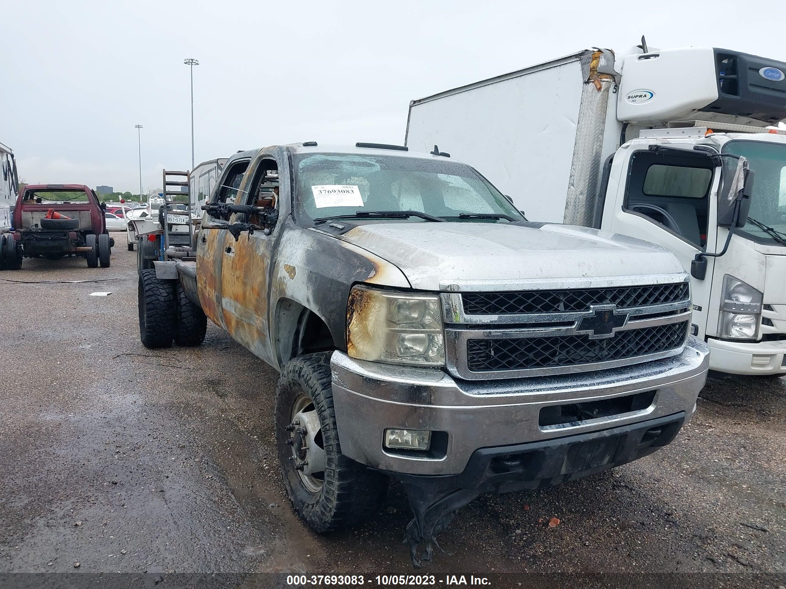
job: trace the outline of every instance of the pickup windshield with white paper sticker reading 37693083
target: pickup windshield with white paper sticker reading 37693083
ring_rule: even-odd
[[[295,212],[305,223],[358,211],[396,210],[418,211],[446,221],[524,220],[485,178],[450,160],[309,153],[296,155],[293,163]],[[414,216],[406,220],[426,222]]]

